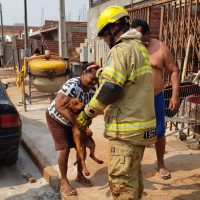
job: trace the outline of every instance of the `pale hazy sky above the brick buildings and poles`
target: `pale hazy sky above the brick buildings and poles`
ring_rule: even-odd
[[[59,0],[27,0],[28,26],[41,26],[44,20],[59,20]],[[66,20],[86,16],[89,0],[65,0]],[[3,24],[24,23],[24,0],[0,0]],[[83,11],[84,10],[84,11]]]

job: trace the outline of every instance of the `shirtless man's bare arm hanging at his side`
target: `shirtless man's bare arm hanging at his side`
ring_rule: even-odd
[[[172,111],[177,111],[180,107],[180,101],[179,101],[180,78],[179,78],[178,67],[175,63],[172,53],[164,43],[162,44],[162,50],[164,56],[164,65],[169,73],[170,81],[172,84],[172,97],[170,100],[170,108]]]

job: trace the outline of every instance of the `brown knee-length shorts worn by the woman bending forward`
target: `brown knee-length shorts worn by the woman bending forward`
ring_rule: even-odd
[[[71,126],[67,126],[55,119],[48,111],[46,111],[46,119],[57,151],[64,150],[66,147],[75,147]]]

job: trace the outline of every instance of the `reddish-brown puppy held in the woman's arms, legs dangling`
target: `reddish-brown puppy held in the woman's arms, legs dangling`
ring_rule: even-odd
[[[70,110],[70,112],[73,115],[76,116],[78,113],[80,113],[80,111],[84,109],[84,104],[80,101],[80,99],[73,98],[73,99],[70,99],[69,103],[67,104],[67,108]],[[78,160],[81,161],[83,173],[85,174],[85,176],[89,176],[90,172],[87,170],[87,167],[85,165],[86,147],[90,149],[90,157],[94,161],[96,161],[98,164],[103,163],[103,161],[97,159],[94,154],[95,142],[92,139],[92,131],[89,129],[89,127],[85,128],[85,130],[79,130],[76,127],[72,127],[72,133],[73,133],[73,138],[76,145],[76,150],[78,153]]]

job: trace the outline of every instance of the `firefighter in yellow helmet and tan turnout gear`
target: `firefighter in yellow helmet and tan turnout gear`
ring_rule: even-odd
[[[104,135],[109,140],[110,190],[117,200],[141,199],[141,160],[145,146],[156,141],[149,55],[141,34],[129,27],[129,15],[120,6],[107,7],[99,16],[98,36],[110,51],[98,73],[100,86],[77,117],[77,123],[85,127],[109,105]]]

